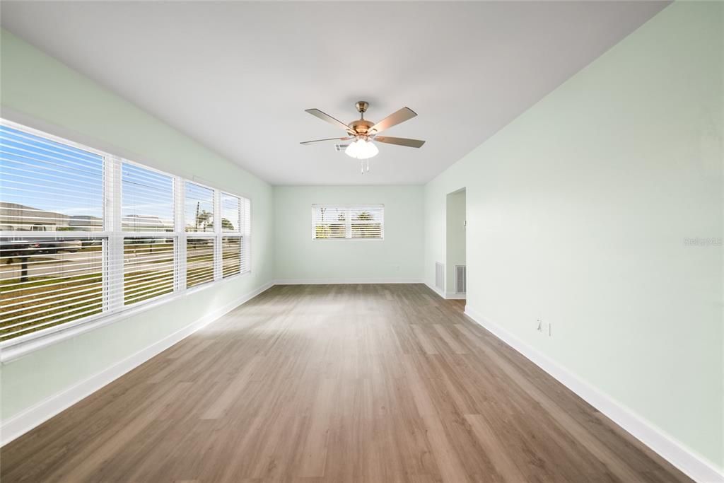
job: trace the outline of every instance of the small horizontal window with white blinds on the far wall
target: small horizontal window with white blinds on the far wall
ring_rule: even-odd
[[[312,238],[384,239],[384,205],[312,205]]]

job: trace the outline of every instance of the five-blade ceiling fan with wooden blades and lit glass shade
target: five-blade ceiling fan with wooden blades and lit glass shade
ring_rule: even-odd
[[[419,148],[425,143],[425,141],[418,139],[390,138],[390,136],[379,135],[382,131],[398,125],[400,122],[405,122],[408,119],[415,117],[417,114],[409,107],[403,107],[399,111],[390,114],[377,123],[364,118],[364,113],[369,107],[369,102],[357,101],[355,107],[360,113],[360,118],[355,119],[349,124],[345,124],[339,119],[334,119],[334,117],[321,112],[319,109],[306,109],[306,112],[309,114],[319,117],[319,119],[327,121],[331,125],[341,127],[343,130],[347,131],[347,136],[344,138],[327,138],[304,141],[300,144],[306,146],[308,144],[321,143],[322,141],[346,141],[354,139],[354,142],[345,149],[345,153],[355,159],[369,159],[379,153],[379,149],[372,141],[377,141],[378,143],[396,144],[397,146],[406,146],[408,148]]]

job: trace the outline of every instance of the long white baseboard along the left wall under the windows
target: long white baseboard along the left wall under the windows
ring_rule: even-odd
[[[74,405],[81,399],[88,397],[93,394],[93,392],[96,392],[101,389],[101,387],[104,387],[110,382],[113,382],[115,379],[118,379],[131,369],[135,369],[140,366],[140,364],[148,361],[148,359],[156,356],[175,343],[180,342],[180,340],[185,339],[185,337],[193,334],[198,329],[206,327],[206,325],[211,324],[211,322],[214,322],[216,319],[219,319],[219,317],[227,314],[234,308],[237,308],[241,304],[251,300],[256,297],[256,295],[259,295],[273,285],[273,282],[269,282],[258,289],[253,290],[251,293],[247,293],[239,298],[236,298],[234,301],[227,303],[227,305],[206,314],[206,316],[203,316],[201,319],[193,322],[193,324],[189,324],[186,327],[167,335],[167,337],[149,345],[147,348],[139,350],[122,361],[117,362],[113,366],[110,366],[97,374],[93,374],[93,376],[88,377],[88,379],[78,382],[71,387],[67,387],[61,392],[30,406],[30,408],[27,408],[15,416],[12,416],[12,418],[7,419],[7,421],[2,421],[0,424],[0,446],[6,445],[8,442],[11,442],[15,438],[30,431],[30,429],[38,427],[40,424],[43,424],[43,422],[51,419],[56,414],[70,408],[70,406]]]

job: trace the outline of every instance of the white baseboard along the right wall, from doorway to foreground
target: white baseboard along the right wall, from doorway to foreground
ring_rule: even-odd
[[[499,324],[495,324],[480,314],[476,314],[476,312],[468,308],[468,306],[466,306],[465,314],[473,320],[473,322],[488,329],[500,340],[510,345],[510,347],[546,371],[565,385],[565,387],[575,392],[581,399],[585,400],[586,403],[597,408],[597,410],[601,411],[601,413],[605,414],[620,427],[626,429],[633,437],[636,437],[636,439],[643,442],[644,445],[647,445],[696,482],[724,482],[724,474],[712,466],[711,463],[704,461],[699,455],[692,453],[691,450],[681,445],[681,443],[673,437],[654,427],[649,421],[646,421],[638,414],[610,398],[610,396],[589,385],[589,383],[571,371],[568,371],[568,369],[560,366],[560,364],[552,358],[545,356],[530,345],[523,343],[518,337],[515,337],[515,335],[502,328]]]

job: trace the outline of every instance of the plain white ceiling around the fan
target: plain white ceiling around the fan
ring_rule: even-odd
[[[656,1],[14,2],[2,26],[274,185],[421,184],[665,7]],[[371,172],[334,143],[370,102]],[[199,162],[202,162],[199,160]]]

